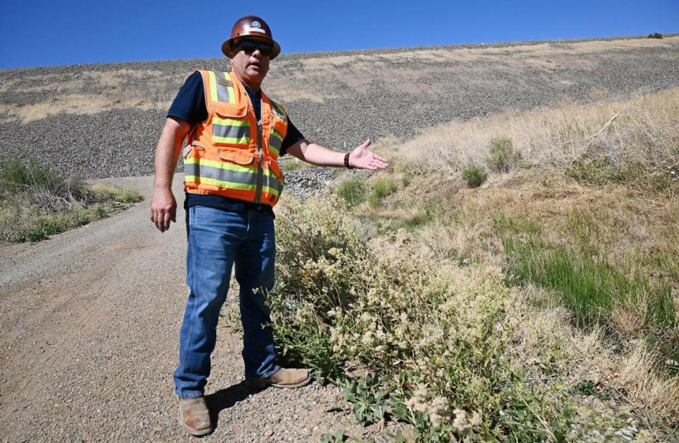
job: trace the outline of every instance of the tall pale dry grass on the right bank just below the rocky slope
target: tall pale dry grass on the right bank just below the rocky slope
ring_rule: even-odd
[[[670,167],[679,165],[678,122],[679,88],[672,88],[622,102],[563,103],[451,122],[405,143],[396,157],[416,169],[461,170],[488,155],[499,136],[510,138],[529,165],[564,167],[596,150],[613,165]]]

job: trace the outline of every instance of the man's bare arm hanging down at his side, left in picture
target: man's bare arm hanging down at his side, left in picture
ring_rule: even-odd
[[[177,202],[172,194],[172,177],[177,166],[181,142],[191,125],[180,119],[168,118],[156,148],[156,177],[151,199],[151,221],[160,232],[170,228],[170,220],[177,221]]]

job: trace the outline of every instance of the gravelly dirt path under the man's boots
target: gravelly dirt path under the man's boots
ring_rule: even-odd
[[[148,218],[152,178],[117,182],[147,201],[45,242],[0,247],[2,440],[191,438],[177,423],[172,383],[186,303],[184,212],[161,234]],[[239,334],[220,327],[207,385],[217,430],[207,439],[317,442],[329,429],[382,439],[377,427],[326,412],[338,404],[332,386],[244,388],[240,351]]]

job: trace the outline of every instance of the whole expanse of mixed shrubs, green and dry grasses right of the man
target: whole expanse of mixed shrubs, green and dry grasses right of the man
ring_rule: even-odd
[[[341,386],[358,423],[401,422],[392,441],[675,439],[678,93],[619,118],[456,122],[402,150],[392,183],[285,203],[268,294],[283,360]],[[473,164],[508,176],[461,190],[451,167]]]

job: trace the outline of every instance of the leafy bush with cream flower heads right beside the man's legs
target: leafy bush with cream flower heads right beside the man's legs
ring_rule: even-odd
[[[503,281],[470,274],[462,287],[456,266],[378,257],[354,223],[327,202],[280,217],[268,303],[282,358],[346,386],[360,423],[403,420],[417,441],[562,439],[564,391],[537,394],[505,358]]]

